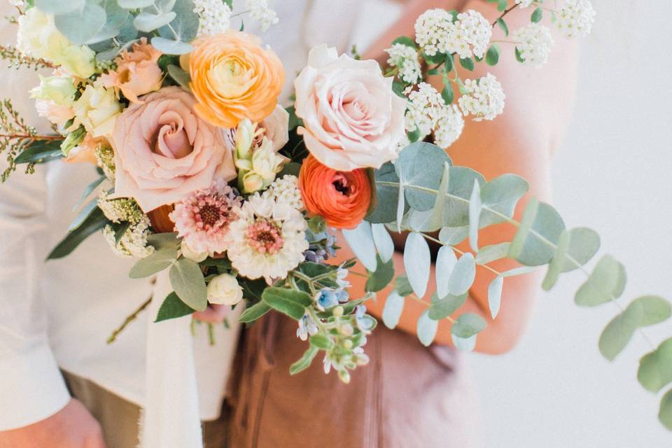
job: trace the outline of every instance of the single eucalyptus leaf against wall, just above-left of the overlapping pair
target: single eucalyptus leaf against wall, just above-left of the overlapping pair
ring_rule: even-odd
[[[621,297],[626,283],[625,267],[611,255],[604,255],[577,291],[574,301],[581,307],[595,307]]]

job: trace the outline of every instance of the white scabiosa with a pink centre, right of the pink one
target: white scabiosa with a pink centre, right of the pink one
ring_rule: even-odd
[[[228,257],[241,276],[272,284],[304,260],[306,221],[288,204],[255,193],[230,224]]]

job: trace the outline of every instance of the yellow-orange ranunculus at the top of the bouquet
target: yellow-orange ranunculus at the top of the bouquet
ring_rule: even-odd
[[[271,115],[285,82],[285,71],[260,39],[229,31],[202,38],[189,55],[191,90],[197,113],[219,127],[236,127],[244,118],[258,123]]]

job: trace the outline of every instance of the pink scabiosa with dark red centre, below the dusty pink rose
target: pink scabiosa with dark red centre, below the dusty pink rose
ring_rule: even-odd
[[[227,249],[229,225],[237,218],[239,195],[222,180],[197,190],[175,205],[170,218],[184,243],[195,253],[218,253]]]

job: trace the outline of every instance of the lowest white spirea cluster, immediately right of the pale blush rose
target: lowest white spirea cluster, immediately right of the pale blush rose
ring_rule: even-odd
[[[409,94],[406,112],[406,130],[420,132],[424,139],[434,132],[434,143],[441,148],[451,146],[460,137],[464,118],[457,106],[447,105],[441,94],[428,83],[420,83],[418,90]]]

